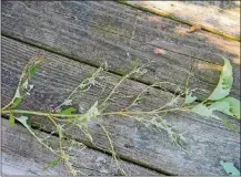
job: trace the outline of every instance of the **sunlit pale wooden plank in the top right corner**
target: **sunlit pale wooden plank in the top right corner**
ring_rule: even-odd
[[[240,1],[125,1],[138,9],[153,12],[203,30],[240,41]]]

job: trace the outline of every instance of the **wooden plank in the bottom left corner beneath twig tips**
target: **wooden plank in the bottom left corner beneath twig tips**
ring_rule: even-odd
[[[8,127],[8,119],[2,118],[2,174],[4,175],[51,175],[51,176],[69,176],[69,171],[63,164],[43,170],[47,164],[57,157],[47,150],[39,142],[21,125],[16,124],[13,127]],[[48,137],[49,134],[38,129],[34,133],[39,137]],[[50,136],[48,138],[57,147],[58,137]],[[118,168],[111,165],[111,156],[93,150],[88,147],[73,146],[70,152],[74,158],[70,163],[73,164],[77,170],[90,176],[117,176],[120,175]],[[120,165],[125,169],[128,176],[152,176],[158,175],[155,171],[133,165],[127,162],[120,162]],[[78,174],[81,175],[81,174]]]

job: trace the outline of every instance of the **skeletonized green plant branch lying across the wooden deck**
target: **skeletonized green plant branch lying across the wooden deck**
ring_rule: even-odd
[[[19,84],[16,90],[16,94],[12,101],[1,108],[1,114],[9,115],[9,126],[14,125],[14,119],[19,121],[32,136],[37,138],[37,140],[53,153],[57,157],[50,162],[47,167],[56,166],[59,162],[66,164],[67,168],[71,173],[72,176],[77,176],[78,174],[84,175],[81,171],[77,171],[71,164],[71,158],[69,156],[68,149],[71,147],[71,144],[64,143],[67,131],[70,127],[78,127],[80,132],[92,143],[94,140],[89,133],[88,123],[94,121],[100,124],[102,132],[104,133],[107,140],[109,142],[110,148],[109,150],[113,159],[120,169],[122,175],[125,175],[124,169],[119,165],[118,154],[114,150],[114,139],[111,138],[111,134],[104,127],[104,119],[111,118],[110,115],[128,117],[137,121],[148,128],[160,131],[162,133],[165,132],[168,134],[170,140],[174,145],[181,145],[181,142],[185,139],[183,136],[184,133],[179,133],[177,129],[172,127],[170,123],[167,122],[165,115],[170,112],[192,112],[201,115],[202,117],[208,118],[217,118],[223,122],[224,126],[233,132],[237,132],[235,127],[233,127],[228,121],[223,121],[214,112],[221,112],[227,114],[233,118],[240,119],[240,101],[237,98],[230,97],[229,93],[232,88],[233,75],[232,75],[232,65],[230,64],[228,59],[224,59],[224,65],[222,72],[220,74],[220,81],[214,88],[214,91],[207,97],[202,103],[197,103],[197,96],[192,95],[192,91],[189,90],[189,81],[185,83],[185,92],[180,93],[178,95],[173,95],[173,97],[167,102],[163,106],[158,108],[150,108],[149,111],[137,111],[135,107],[142,102],[143,95],[152,87],[161,87],[162,84],[172,84],[169,82],[157,82],[152,85],[143,88],[125,107],[119,111],[107,111],[108,104],[111,98],[118,93],[118,88],[121,84],[123,84],[130,77],[141,76],[147,72],[147,65],[139,65],[138,62],[134,63],[133,70],[122,76],[119,82],[113,86],[107,97],[102,100],[97,100],[88,110],[83,113],[77,113],[77,107],[72,105],[74,96],[82,96],[94,85],[99,85],[102,88],[102,93],[104,92],[106,85],[100,83],[103,80],[101,76],[104,71],[103,67],[97,69],[96,72],[90,77],[87,77],[67,96],[67,98],[59,105],[56,106],[51,112],[41,112],[41,111],[27,111],[18,108],[26,98],[26,94],[30,94],[33,85],[29,84],[29,80],[34,76],[34,74],[40,69],[40,64],[44,61],[43,55],[37,56],[34,60],[30,60],[23,72],[20,76]],[[190,75],[189,75],[190,76]],[[189,80],[188,76],[188,80]],[[178,87],[177,87],[178,91]],[[184,100],[182,100],[181,104],[178,102],[181,97],[185,95]],[[99,104],[100,103],[100,104]],[[53,149],[50,144],[46,143],[47,138],[40,138],[36,135],[34,129],[31,128],[29,121],[31,116],[38,116],[39,118],[48,118],[53,125],[53,132],[59,136],[59,148]],[[101,123],[100,123],[101,122]],[[52,133],[51,133],[52,134]],[[50,134],[50,135],[51,135]],[[77,143],[77,142],[74,142]],[[68,146],[69,145],[69,146]]]

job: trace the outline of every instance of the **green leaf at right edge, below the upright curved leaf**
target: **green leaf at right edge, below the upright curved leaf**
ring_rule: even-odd
[[[218,102],[228,102],[230,105],[230,112],[240,119],[240,101],[234,97],[224,97]]]

